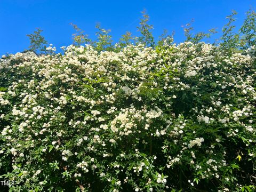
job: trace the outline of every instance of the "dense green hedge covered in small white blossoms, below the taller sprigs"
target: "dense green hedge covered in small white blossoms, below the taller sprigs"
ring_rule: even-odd
[[[2,179],[10,191],[253,191],[255,57],[187,42],[2,58]]]

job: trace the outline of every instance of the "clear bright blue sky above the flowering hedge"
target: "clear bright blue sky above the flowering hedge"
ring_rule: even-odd
[[[245,18],[245,12],[256,7],[255,0],[129,0],[129,1],[55,1],[55,0],[0,0],[0,55],[21,52],[29,46],[27,34],[35,28],[43,29],[43,36],[57,47],[72,43],[75,33],[69,25],[75,23],[95,38],[95,24],[100,22],[111,29],[114,41],[125,33],[137,33],[136,26],[141,11],[146,9],[154,35],[164,29],[175,31],[175,42],[184,39],[182,25],[194,19],[195,31],[206,31],[217,27],[218,31],[227,22],[231,10],[238,12],[237,26]],[[218,35],[216,36],[218,37]]]

